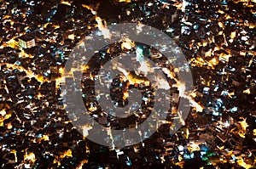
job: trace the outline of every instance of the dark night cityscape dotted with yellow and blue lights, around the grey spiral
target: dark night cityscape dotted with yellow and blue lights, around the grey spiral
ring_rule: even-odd
[[[0,0],[0,4],[0,168],[256,168],[255,0]],[[87,65],[73,63],[76,69],[65,70],[73,48],[83,46],[81,41],[90,33],[111,38],[108,26],[122,23],[163,31],[177,43],[188,65],[173,67],[155,48],[124,38],[96,51]],[[106,142],[113,143],[108,147],[86,138],[96,134],[90,125],[83,133],[77,130],[65,110],[63,88],[79,82],[69,73],[82,71],[82,98],[92,119],[108,129],[137,128],[154,104],[161,103],[155,99],[155,86],[139,75],[150,71],[146,61],[110,83],[109,97],[120,107],[129,103],[131,88],[142,93],[141,107],[134,114],[120,118],[97,103],[96,79],[108,81],[98,73],[108,60],[122,54],[135,54],[135,62],[143,57],[153,60],[154,69],[161,67],[169,84],[160,90],[172,95],[161,125],[148,123],[159,126],[157,131],[144,132],[147,139],[119,148],[114,143],[129,140],[98,129]],[[177,78],[177,72],[186,69],[194,83],[189,93],[183,93],[185,84]],[[170,134],[182,98],[189,101],[189,115],[180,118],[182,127]]]

